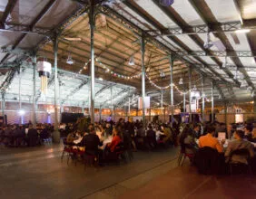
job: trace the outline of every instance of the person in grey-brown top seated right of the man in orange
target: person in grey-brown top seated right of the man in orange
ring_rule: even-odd
[[[234,133],[235,140],[230,142],[228,145],[228,148],[225,152],[226,162],[239,162],[239,163],[247,163],[247,159],[245,156],[231,156],[232,152],[239,149],[247,149],[249,151],[249,154],[251,157],[254,156],[253,146],[251,145],[251,142],[243,140],[244,132],[242,130],[236,130]]]

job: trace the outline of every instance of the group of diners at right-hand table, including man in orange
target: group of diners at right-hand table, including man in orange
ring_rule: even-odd
[[[244,165],[255,167],[256,128],[253,124],[233,124],[227,129],[219,123],[208,124],[200,132],[200,125],[184,125],[180,144],[182,153],[189,156],[191,163],[205,170],[204,160],[212,167],[225,170],[228,166]],[[221,136],[220,136],[221,135]]]

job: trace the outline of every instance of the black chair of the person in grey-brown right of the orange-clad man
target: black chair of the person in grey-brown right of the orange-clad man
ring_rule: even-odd
[[[240,159],[244,159],[245,162],[241,161],[233,161],[233,156],[239,156]],[[250,152],[247,148],[241,148],[237,149],[231,152],[230,160],[229,160],[229,166],[230,166],[230,174],[233,174],[233,168],[241,168],[241,172],[243,171],[243,168],[247,171],[247,173],[251,172],[251,158],[250,158]]]

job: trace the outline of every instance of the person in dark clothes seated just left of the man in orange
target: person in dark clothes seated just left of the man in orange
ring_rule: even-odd
[[[192,154],[194,155],[197,151],[197,144],[194,141],[194,132],[191,128],[184,128],[182,131],[182,135],[180,138],[180,144],[182,146],[182,149],[185,150],[186,154]]]

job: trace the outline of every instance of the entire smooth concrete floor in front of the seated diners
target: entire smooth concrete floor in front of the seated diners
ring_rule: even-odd
[[[256,178],[198,175],[178,149],[137,152],[130,164],[89,167],[61,163],[62,147],[0,150],[0,198],[256,198]]]

